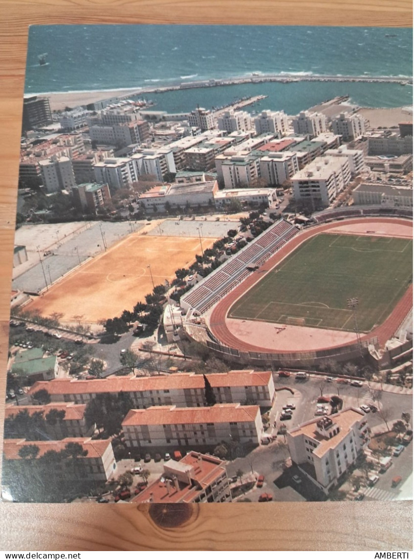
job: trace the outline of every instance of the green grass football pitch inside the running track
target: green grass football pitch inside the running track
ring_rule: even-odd
[[[305,241],[230,309],[234,319],[360,332],[391,313],[412,282],[412,240],[321,234]]]

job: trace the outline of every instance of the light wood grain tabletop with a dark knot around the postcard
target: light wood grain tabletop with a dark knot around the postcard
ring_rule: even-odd
[[[27,29],[33,24],[412,25],[411,0],[0,0],[0,422]],[[168,512],[167,514],[168,515]],[[412,502],[0,504],[1,550],[411,550]],[[170,522],[171,520],[168,520]],[[170,523],[171,525],[171,523]]]

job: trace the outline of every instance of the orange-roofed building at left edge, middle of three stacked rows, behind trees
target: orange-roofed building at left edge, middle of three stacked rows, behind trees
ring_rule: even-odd
[[[87,424],[84,417],[86,404],[74,403],[51,403],[51,404],[30,404],[30,405],[7,405],[4,411],[6,422],[8,419],[16,417],[19,412],[27,412],[29,416],[32,414],[43,414],[45,418],[44,430],[51,440],[62,440],[65,437],[90,437],[95,430],[95,424]],[[58,410],[64,413],[62,419],[58,418],[55,422],[48,421],[48,414],[51,410]],[[10,431],[8,431],[10,433]],[[11,437],[25,437],[26,434],[15,433]]]

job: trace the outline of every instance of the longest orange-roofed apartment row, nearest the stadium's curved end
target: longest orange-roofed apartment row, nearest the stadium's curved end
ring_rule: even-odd
[[[255,402],[270,406],[275,398],[275,385],[270,371],[232,370],[207,374],[218,403]],[[87,404],[100,394],[128,394],[135,408],[154,405],[203,407],[205,383],[202,375],[178,373],[153,377],[108,377],[96,380],[55,379],[38,381],[29,396],[46,389],[53,403]]]

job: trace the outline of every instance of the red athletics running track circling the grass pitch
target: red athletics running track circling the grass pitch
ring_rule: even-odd
[[[270,269],[274,268],[278,263],[281,262],[286,256],[288,256],[292,251],[294,251],[300,244],[302,244],[305,240],[309,239],[309,237],[313,237],[314,235],[321,234],[322,232],[328,230],[338,230],[338,229],[346,229],[346,226],[353,226],[352,228],[357,230],[355,226],[363,225],[368,226],[370,223],[377,223],[383,224],[384,227],[387,225],[387,232],[381,232],[381,235],[391,237],[393,235],[393,225],[397,226],[396,229],[396,237],[401,237],[401,226],[405,226],[412,228],[412,223],[409,220],[402,220],[399,218],[350,218],[349,220],[341,220],[338,222],[331,222],[322,224],[319,226],[314,226],[309,230],[306,230],[297,237],[294,237],[291,241],[289,241],[286,245],[283,246],[275,255],[271,256],[269,260],[266,261],[264,265],[258,269],[257,272],[251,274],[251,276],[247,277],[244,282],[242,282],[239,286],[234,288],[233,291],[228,293],[222,301],[220,301],[211,312],[210,318],[207,319],[209,323],[209,328],[211,333],[219,340],[224,346],[228,346],[230,348],[237,348],[243,352],[277,352],[277,353],[291,353],[291,352],[300,352],[300,326],[293,326],[289,325],[289,329],[294,329],[295,333],[294,336],[291,337],[291,348],[277,348],[275,347],[261,347],[255,346],[254,344],[248,343],[245,340],[241,340],[238,338],[231,330],[228,328],[225,319],[227,318],[228,311],[230,307],[234,304],[239,297],[241,297],[244,293],[246,293],[250,288],[260,281],[263,278],[265,272],[268,272]],[[391,225],[391,232],[390,226]],[[345,233],[345,231],[344,231]],[[360,231],[361,234],[366,235],[366,230]],[[355,231],[354,235],[357,235],[357,231]],[[371,235],[371,234],[368,234]],[[377,233],[379,235],[379,232]],[[261,273],[261,274],[258,274]],[[392,338],[393,334],[398,329],[398,326],[402,323],[403,319],[406,317],[408,311],[410,311],[412,307],[412,285],[406,293],[404,293],[401,300],[398,301],[397,305],[392,310],[391,314],[388,318],[379,325],[377,328],[372,330],[370,333],[362,335],[361,340],[370,339],[373,337],[378,337],[378,341],[380,346],[383,346],[387,340]],[[257,328],[257,323],[255,323]],[[266,323],[264,323],[266,325]],[[269,323],[267,325],[270,325]],[[317,329],[321,332],[321,337],[323,338],[323,329]],[[344,344],[336,344],[335,346],[319,346],[321,342],[318,343],[315,340],[316,346],[313,348],[313,351],[316,350],[326,350],[328,348],[341,348],[344,346],[348,346],[349,342]],[[355,338],[356,342],[356,338]]]

